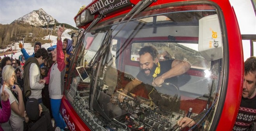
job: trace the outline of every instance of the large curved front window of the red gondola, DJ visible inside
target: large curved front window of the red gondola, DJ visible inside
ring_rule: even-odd
[[[76,48],[67,99],[95,128],[171,130],[192,109],[192,128],[210,130],[223,70],[218,14],[209,4],[161,5],[96,24]]]

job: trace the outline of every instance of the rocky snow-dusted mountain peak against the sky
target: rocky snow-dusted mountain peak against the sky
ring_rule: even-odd
[[[33,25],[35,27],[44,26],[44,25],[52,25],[59,23],[55,18],[48,15],[42,8],[39,10],[33,10],[32,12],[14,20],[13,23],[28,23],[29,25]]]

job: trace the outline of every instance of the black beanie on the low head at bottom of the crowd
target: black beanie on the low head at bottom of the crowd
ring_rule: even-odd
[[[30,120],[36,121],[39,119],[39,102],[35,98],[28,99],[26,103],[26,113]]]

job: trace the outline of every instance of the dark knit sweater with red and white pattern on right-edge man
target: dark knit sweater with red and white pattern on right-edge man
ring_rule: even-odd
[[[252,99],[242,97],[233,130],[246,131],[254,121],[256,121],[256,96]]]

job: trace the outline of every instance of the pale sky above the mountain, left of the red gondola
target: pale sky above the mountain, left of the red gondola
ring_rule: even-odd
[[[76,27],[74,16],[92,0],[0,0],[0,24],[10,24],[33,10],[42,8],[60,23]]]

